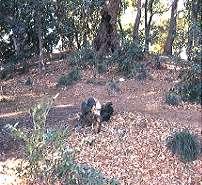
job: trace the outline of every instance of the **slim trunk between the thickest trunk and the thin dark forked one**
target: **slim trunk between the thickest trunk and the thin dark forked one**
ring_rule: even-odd
[[[137,15],[135,18],[135,24],[133,29],[133,41],[139,43],[139,26],[141,19],[141,0],[137,0]]]

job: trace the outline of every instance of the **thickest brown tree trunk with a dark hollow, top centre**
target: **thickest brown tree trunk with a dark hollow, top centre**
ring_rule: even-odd
[[[106,1],[105,7],[101,11],[101,23],[94,39],[94,47],[98,56],[114,52],[119,48],[117,34],[117,21],[120,13],[121,0]]]

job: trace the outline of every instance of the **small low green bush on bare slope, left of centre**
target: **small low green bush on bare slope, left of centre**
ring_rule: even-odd
[[[58,80],[58,86],[69,86],[81,79],[81,73],[78,68],[74,68],[66,75],[62,75]]]

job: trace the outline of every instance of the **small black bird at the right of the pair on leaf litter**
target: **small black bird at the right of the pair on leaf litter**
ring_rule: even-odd
[[[100,111],[101,122],[109,121],[113,113],[114,109],[112,107],[112,102],[107,102],[106,104],[102,105]]]

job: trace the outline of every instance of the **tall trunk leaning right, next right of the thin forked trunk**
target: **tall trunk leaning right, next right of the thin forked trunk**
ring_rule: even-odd
[[[171,9],[170,26],[168,36],[164,46],[164,55],[172,55],[172,46],[176,36],[176,19],[177,19],[177,3],[179,0],[174,0]]]

